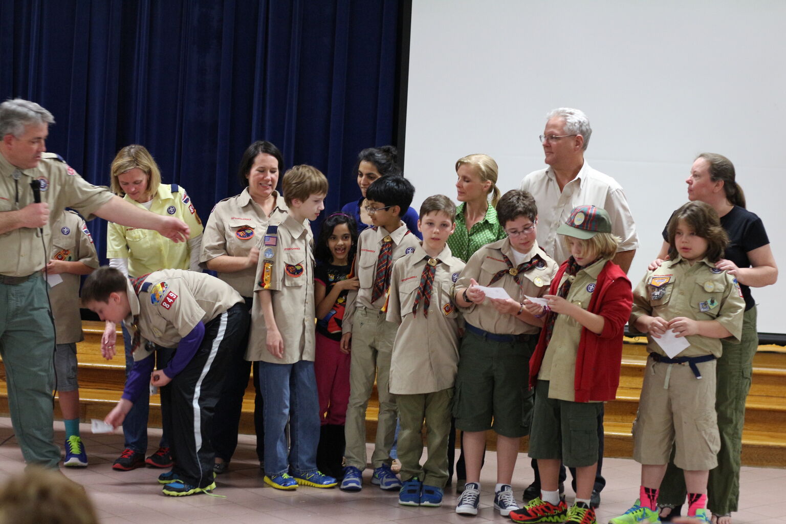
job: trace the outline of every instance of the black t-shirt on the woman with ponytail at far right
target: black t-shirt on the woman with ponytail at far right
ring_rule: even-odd
[[[747,258],[748,252],[769,244],[762,219],[744,207],[732,207],[732,211],[721,217],[721,225],[729,235],[729,246],[726,247],[724,256],[737,267],[751,267],[751,260]],[[668,224],[663,228],[663,240],[669,241]],[[740,284],[740,289],[745,299],[745,310],[750,310],[756,305],[751,295],[751,288]]]

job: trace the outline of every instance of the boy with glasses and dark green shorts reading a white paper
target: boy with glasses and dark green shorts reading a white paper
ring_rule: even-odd
[[[476,251],[456,284],[455,300],[466,321],[454,398],[467,463],[468,482],[456,506],[461,515],[478,512],[481,457],[489,429],[497,433],[494,508],[504,516],[518,508],[510,482],[532,414],[532,393],[522,373],[543,324],[524,309],[523,300],[524,295],[543,295],[557,267],[538,247],[538,207],[528,192],[506,192],[497,215],[508,238]],[[511,298],[487,300],[480,286],[503,288]]]

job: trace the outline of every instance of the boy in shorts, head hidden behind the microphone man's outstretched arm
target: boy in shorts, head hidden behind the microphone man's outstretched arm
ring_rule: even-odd
[[[98,255],[85,221],[74,211],[63,211],[52,225],[52,259],[46,265],[46,274],[59,274],[63,279],[50,288],[49,295],[56,330],[55,379],[65,424],[63,465],[67,467],[87,465],[85,445],[79,436],[76,343],[85,339],[79,316],[79,275],[90,274],[97,267]]]

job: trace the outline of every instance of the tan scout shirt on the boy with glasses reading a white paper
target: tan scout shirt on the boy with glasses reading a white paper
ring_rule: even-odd
[[[538,247],[537,241],[533,244],[531,251],[524,256],[524,261],[531,260],[534,255],[540,255],[545,263],[540,267],[534,266],[527,273],[524,273],[523,277],[520,276],[521,286],[516,284],[516,280],[513,280],[510,274],[506,274],[489,286],[491,278],[501,269],[507,269],[508,267],[502,258],[502,254],[510,259],[513,266],[518,266],[513,258],[513,248],[510,247],[510,240],[507,238],[497,240],[475,251],[469,258],[464,271],[461,272],[461,277],[458,279],[456,287],[468,288],[469,280],[474,278],[481,286],[505,288],[510,298],[518,302],[524,299],[524,295],[539,297],[549,292],[549,284],[551,284],[551,279],[554,277],[558,266],[549,255],[546,255]],[[461,308],[461,311],[464,313],[464,320],[467,321],[467,324],[472,324],[476,328],[483,329],[483,331],[498,335],[534,334],[540,330],[537,326],[520,321],[514,315],[500,314],[488,300],[484,300],[482,304],[472,304],[472,306],[467,308]]]

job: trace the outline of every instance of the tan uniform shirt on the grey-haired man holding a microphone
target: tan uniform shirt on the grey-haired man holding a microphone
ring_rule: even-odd
[[[18,172],[19,180],[14,180]],[[41,201],[48,203],[50,217],[61,215],[66,207],[73,207],[90,216],[108,200],[112,193],[85,181],[76,171],[57,159],[41,159],[37,167],[17,170],[0,154],[0,212],[18,211],[33,203],[30,182],[41,181]],[[51,221],[44,225],[44,242],[38,228],[19,228],[0,234],[0,274],[27,277],[40,271],[50,261]]]

